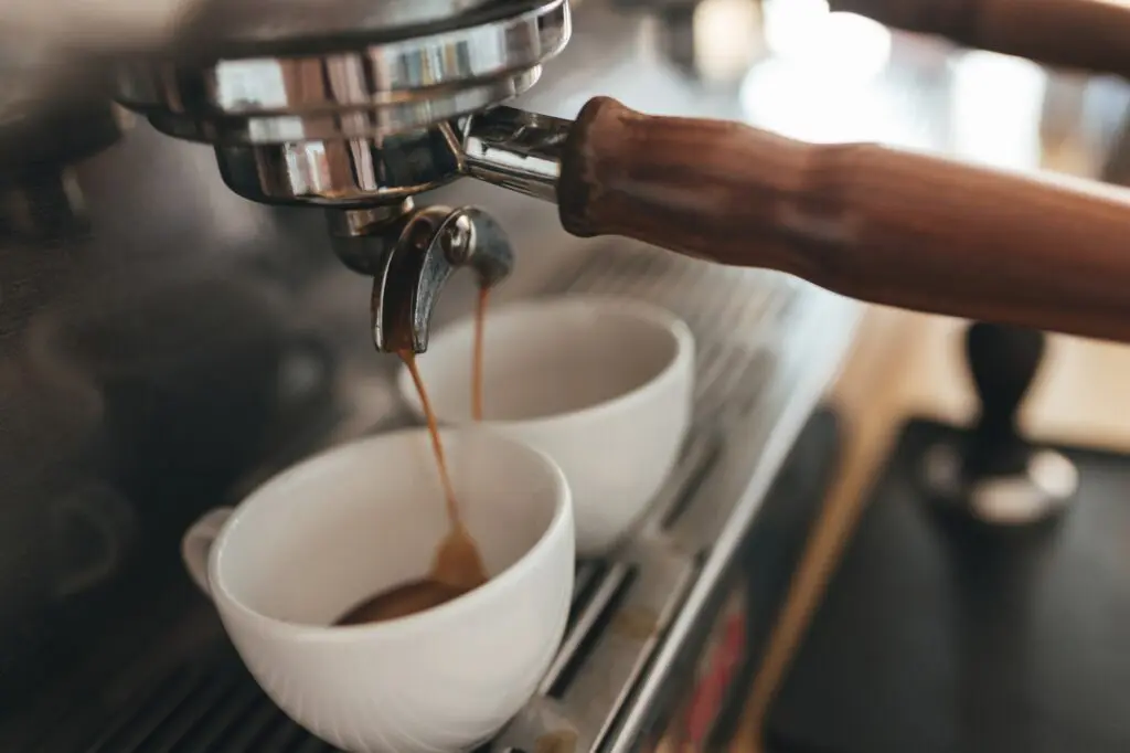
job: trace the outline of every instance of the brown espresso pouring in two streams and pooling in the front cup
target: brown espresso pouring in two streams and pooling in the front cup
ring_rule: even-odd
[[[475,311],[475,350],[471,364],[471,415],[475,421],[483,419],[483,330],[488,297],[489,291],[480,288]],[[451,484],[447,460],[443,453],[443,442],[440,441],[440,423],[435,410],[432,409],[427,390],[424,389],[424,380],[416,365],[416,355],[411,350],[402,350],[399,355],[412,376],[420,406],[427,418],[432,451],[435,453],[440,483],[443,485],[451,530],[440,542],[427,578],[397,586],[365,599],[340,617],[336,623],[339,625],[382,622],[424,612],[478,588],[488,579],[479,548],[459,512],[455,490]]]

